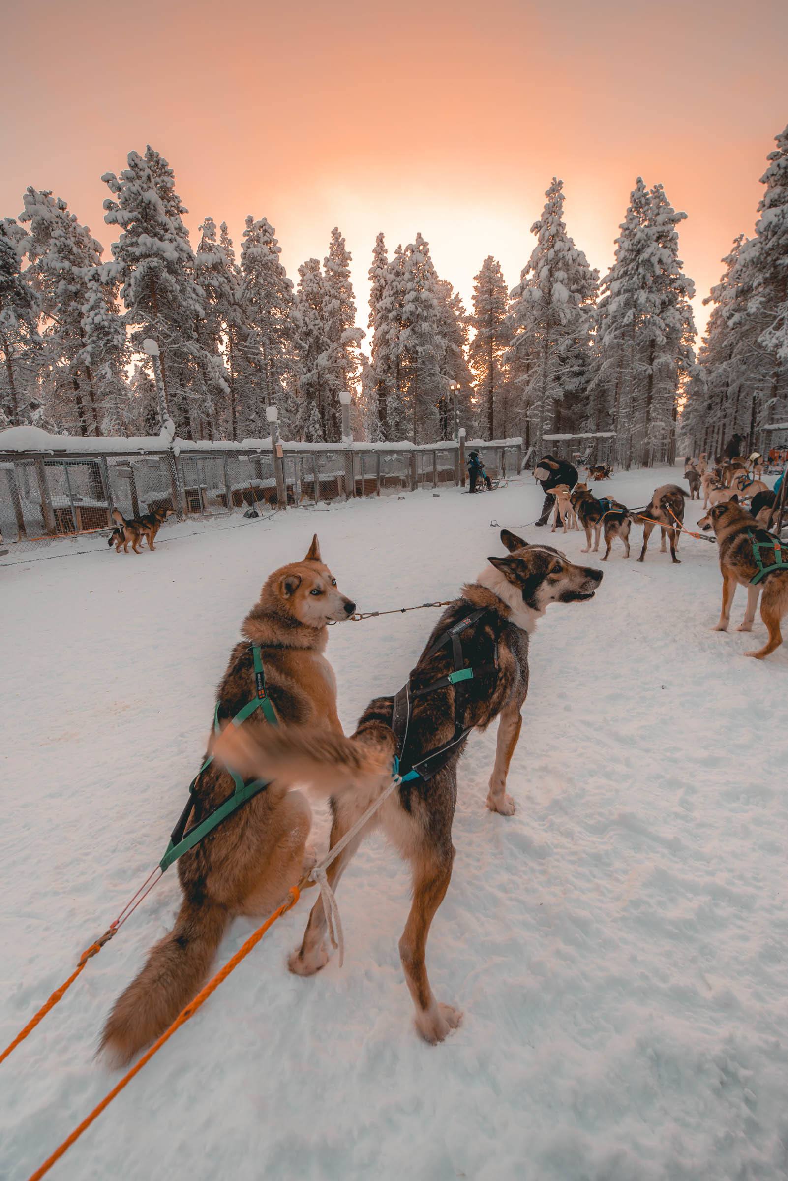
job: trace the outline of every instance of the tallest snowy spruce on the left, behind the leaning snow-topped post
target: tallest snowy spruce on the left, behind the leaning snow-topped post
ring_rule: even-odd
[[[201,417],[210,409],[204,404],[202,350],[196,339],[203,306],[191,247],[180,226],[170,221],[155,177],[138,152],[129,154],[129,168],[120,176],[105,172],[101,180],[113,194],[104,202],[104,220],[120,229],[112,244],[113,278],[120,283],[130,344],[139,353],[143,340],[156,340],[176,430],[195,438]],[[169,187],[162,177],[159,187],[166,197]]]

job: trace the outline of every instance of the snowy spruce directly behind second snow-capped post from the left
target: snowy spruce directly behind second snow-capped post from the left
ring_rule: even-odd
[[[256,380],[241,407],[241,417],[245,432],[257,438],[268,433],[265,406],[278,409],[280,431],[285,438],[297,410],[293,283],[280,260],[281,253],[270,222],[265,217],[255,221],[249,215],[241,247],[241,302],[251,328]]]

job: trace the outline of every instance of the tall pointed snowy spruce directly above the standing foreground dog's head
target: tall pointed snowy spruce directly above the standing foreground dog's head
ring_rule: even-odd
[[[553,177],[541,217],[531,227],[537,246],[511,293],[511,345],[505,354],[521,391],[526,442],[541,448],[550,431],[582,419],[585,360],[598,274],[566,233],[563,182]]]

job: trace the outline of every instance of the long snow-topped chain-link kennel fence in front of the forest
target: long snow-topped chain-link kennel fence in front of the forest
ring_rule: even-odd
[[[58,539],[109,537],[113,510],[130,518],[168,508],[170,521],[183,521],[454,487],[465,483],[471,448],[494,479],[517,475],[523,464],[520,439],[252,448],[83,441],[21,429],[19,445],[8,446],[7,437],[19,439],[19,430],[0,435],[0,544],[6,554]]]

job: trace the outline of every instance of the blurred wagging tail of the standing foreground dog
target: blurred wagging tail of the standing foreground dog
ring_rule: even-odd
[[[307,726],[226,726],[214,744],[219,762],[244,777],[303,784],[321,797],[373,787],[392,774],[394,736],[379,743]]]

